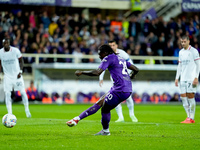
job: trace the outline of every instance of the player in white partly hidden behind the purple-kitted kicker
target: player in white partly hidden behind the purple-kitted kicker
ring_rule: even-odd
[[[124,58],[126,61],[133,64],[133,61],[129,58],[129,55],[121,49],[118,49],[118,45],[115,41],[109,41],[108,44],[113,49],[115,53],[117,53],[120,57]],[[131,70],[128,70],[129,74],[131,73]],[[99,76],[99,85],[102,86],[103,84],[103,77],[104,77],[105,71],[102,72],[102,74]],[[112,78],[111,78],[112,80]],[[129,116],[132,120],[132,122],[138,122],[138,119],[135,117],[134,114],[134,102],[132,99],[132,96],[130,96],[128,99],[126,99],[126,104],[129,109]],[[115,122],[124,122],[124,116],[122,113],[122,106],[119,104],[117,107],[115,107],[115,110],[117,111],[118,119]]]

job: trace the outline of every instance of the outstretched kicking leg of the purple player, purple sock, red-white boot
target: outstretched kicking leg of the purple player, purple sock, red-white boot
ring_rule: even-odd
[[[95,103],[93,106],[91,106],[87,110],[83,111],[79,116],[74,117],[70,121],[66,122],[66,124],[70,127],[73,127],[77,125],[80,120],[96,113],[103,106],[105,96],[106,94],[104,94],[97,103]]]

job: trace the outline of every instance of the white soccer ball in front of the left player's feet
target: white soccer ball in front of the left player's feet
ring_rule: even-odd
[[[2,118],[2,123],[7,128],[12,128],[17,123],[17,118],[13,114],[5,114]]]

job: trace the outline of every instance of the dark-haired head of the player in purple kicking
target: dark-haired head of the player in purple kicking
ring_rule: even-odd
[[[102,60],[105,56],[108,56],[110,54],[115,54],[113,49],[108,44],[103,44],[99,47],[98,54],[99,58]]]

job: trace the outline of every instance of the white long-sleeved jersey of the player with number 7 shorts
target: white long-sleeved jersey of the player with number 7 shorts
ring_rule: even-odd
[[[181,65],[180,81],[193,81],[197,74],[197,66],[195,61],[199,60],[197,49],[191,45],[188,49],[181,49],[179,52],[179,63]]]

